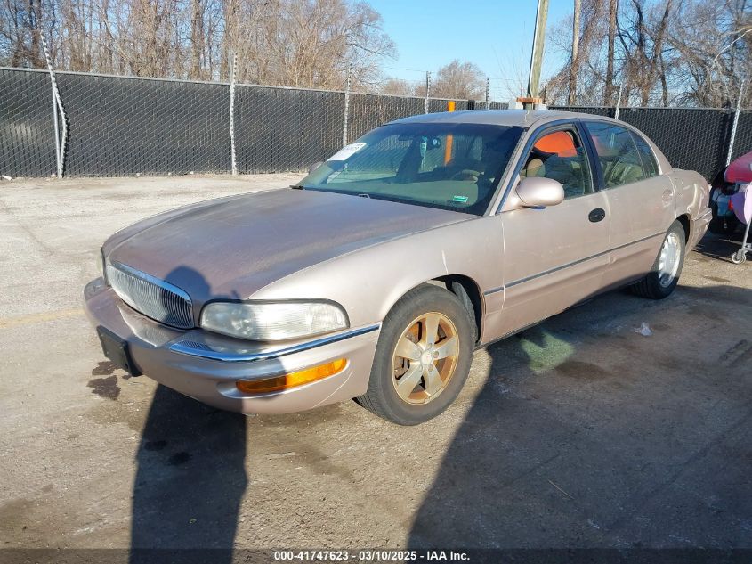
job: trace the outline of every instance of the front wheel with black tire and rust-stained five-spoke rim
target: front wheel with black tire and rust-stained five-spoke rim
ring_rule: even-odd
[[[431,326],[426,323],[433,323],[429,318],[439,328],[434,331],[435,346],[430,344],[431,339],[426,339],[425,327]],[[408,291],[384,319],[368,391],[356,401],[398,425],[417,425],[433,419],[449,407],[465,385],[473,360],[474,335],[474,322],[467,309],[449,290],[422,284]],[[453,345],[448,340],[452,336],[456,337]],[[402,348],[405,340],[410,342]],[[452,346],[441,348],[448,344]],[[419,360],[400,356],[398,353],[403,350],[415,354]],[[455,355],[427,362],[433,356],[455,351]],[[416,354],[418,352],[421,354]],[[433,365],[430,372],[429,364]],[[405,384],[400,391],[399,382]]]

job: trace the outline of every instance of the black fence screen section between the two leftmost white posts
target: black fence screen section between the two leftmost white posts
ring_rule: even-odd
[[[57,75],[69,176],[230,169],[227,87]]]

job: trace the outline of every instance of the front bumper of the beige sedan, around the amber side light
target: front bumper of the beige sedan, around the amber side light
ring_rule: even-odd
[[[86,315],[128,343],[136,367],[168,388],[220,409],[291,413],[360,396],[368,388],[380,325],[292,344],[261,347],[200,329],[180,331],[134,311],[101,278],[84,290]],[[342,372],[297,388],[247,395],[237,380],[258,380],[346,358]]]

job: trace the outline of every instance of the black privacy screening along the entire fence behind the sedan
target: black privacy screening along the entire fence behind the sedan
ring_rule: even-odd
[[[65,176],[181,175],[232,169],[230,86],[154,78],[56,73],[68,135]],[[492,102],[491,109],[506,104]],[[345,94],[270,86],[235,88],[240,173],[301,171],[342,147]],[[447,101],[430,99],[430,112]],[[457,110],[485,108],[457,101]],[[561,107],[613,116],[613,108]],[[350,94],[348,140],[392,119],[422,114],[425,99]],[[622,109],[676,168],[711,180],[724,169],[733,110]],[[733,158],[752,151],[752,112],[740,113]],[[55,173],[53,94],[47,72],[0,69],[0,174]]]

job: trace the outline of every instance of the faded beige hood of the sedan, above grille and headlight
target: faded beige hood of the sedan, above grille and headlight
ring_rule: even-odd
[[[391,201],[284,189],[167,212],[117,233],[104,249],[110,262],[170,282],[200,307],[210,299],[248,298],[287,274],[468,218]]]

